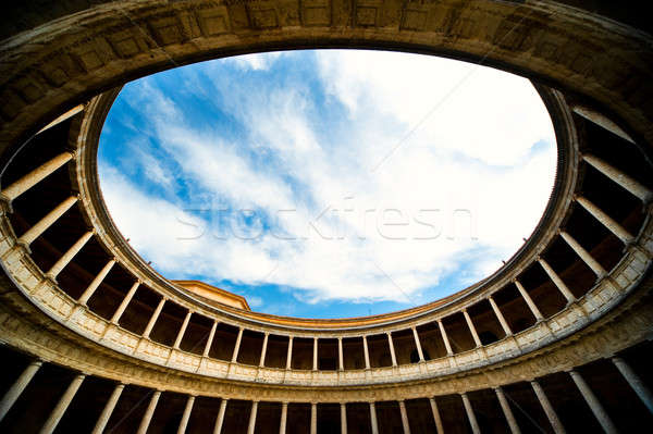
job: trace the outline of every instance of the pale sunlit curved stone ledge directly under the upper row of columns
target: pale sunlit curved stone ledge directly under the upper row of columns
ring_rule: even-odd
[[[188,373],[243,382],[266,382],[303,386],[349,386],[382,384],[453,375],[480,367],[492,365],[506,359],[543,348],[587,327],[617,306],[637,287],[639,278],[651,264],[653,251],[653,222],[649,219],[637,241],[627,248],[619,263],[567,309],[537,323],[514,336],[453,356],[418,364],[374,368],[365,371],[286,371],[282,369],[250,367],[202,358],[180,349],[143,338],[89,311],[61,290],[34,264],[25,249],[8,241],[12,238],[5,216],[2,223],[0,257],[7,271],[24,295],[32,299],[50,318],[78,333],[123,355],[174,368]],[[9,234],[7,232],[10,232]]]

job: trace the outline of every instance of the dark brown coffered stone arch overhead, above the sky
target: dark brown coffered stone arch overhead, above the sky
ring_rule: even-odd
[[[38,131],[58,108],[125,78],[215,57],[319,46],[440,53],[545,78],[612,107],[653,142],[651,37],[581,9],[538,0],[396,1],[374,4],[380,13],[361,23],[346,2],[325,1],[317,21],[300,2],[266,2],[264,16],[256,3],[111,2],[5,39],[0,76],[11,104],[2,109],[0,149]]]

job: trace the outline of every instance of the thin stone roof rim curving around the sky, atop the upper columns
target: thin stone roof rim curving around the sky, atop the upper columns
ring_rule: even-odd
[[[406,52],[410,52],[407,50]],[[532,83],[532,82],[531,82]],[[578,159],[578,138],[577,132],[571,120],[571,112],[567,107],[560,92],[550,87],[532,83],[535,90],[542,98],[547,110],[556,136],[556,174],[553,183],[551,196],[546,208],[540,218],[535,228],[527,241],[506,261],[504,265],[497,269],[491,275],[479,282],[451,294],[446,297],[433,300],[431,302],[417,307],[396,310],[374,315],[338,318],[338,319],[311,319],[299,317],[275,315],[264,312],[246,311],[227,306],[217,307],[205,302],[195,297],[189,292],[174,285],[164,276],[159,274],[152,266],[138,255],[138,252],[127,244],[118,227],[115,226],[111,214],[99,187],[99,175],[97,169],[97,151],[99,147],[99,137],[107,115],[118,98],[122,86],[109,90],[96,97],[85,110],[82,128],[77,138],[81,152],[77,154],[77,164],[82,168],[77,174],[77,182],[82,201],[85,204],[86,212],[89,213],[98,235],[103,238],[107,246],[113,249],[112,255],[126,259],[125,263],[136,265],[141,276],[141,281],[150,281],[155,286],[163,288],[171,296],[177,296],[196,306],[211,311],[220,312],[235,320],[251,321],[264,325],[281,326],[282,328],[316,328],[316,330],[347,330],[369,326],[389,325],[403,321],[415,321],[439,312],[444,308],[467,303],[475,295],[485,294],[483,290],[492,287],[494,284],[506,280],[507,275],[518,274],[518,270],[528,266],[539,253],[539,246],[546,246],[549,240],[555,236],[560,222],[566,214],[570,203],[572,191],[576,187],[576,170]],[[83,146],[82,146],[83,145]],[[541,249],[541,248],[540,248]],[[138,274],[138,273],[135,273]],[[508,278],[509,280],[509,278]]]

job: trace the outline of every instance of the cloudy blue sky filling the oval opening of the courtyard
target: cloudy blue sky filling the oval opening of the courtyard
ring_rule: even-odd
[[[495,271],[555,175],[532,85],[417,54],[249,54],[127,84],[100,186],[132,246],[268,313],[432,301]]]

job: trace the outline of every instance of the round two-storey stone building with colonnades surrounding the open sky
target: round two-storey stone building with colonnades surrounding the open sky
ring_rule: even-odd
[[[645,4],[26,0],[2,15],[0,432],[652,426]],[[174,284],[122,238],[96,154],[124,83],[316,47],[446,55],[535,84],[557,138],[555,186],[501,270],[409,310],[305,320]]]

